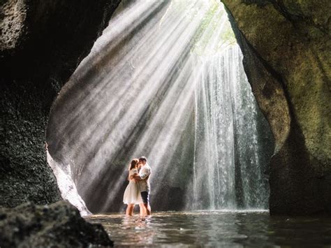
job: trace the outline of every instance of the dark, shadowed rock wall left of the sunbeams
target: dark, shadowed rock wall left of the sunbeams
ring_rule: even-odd
[[[50,106],[119,1],[0,1],[1,206],[60,199],[44,147]]]

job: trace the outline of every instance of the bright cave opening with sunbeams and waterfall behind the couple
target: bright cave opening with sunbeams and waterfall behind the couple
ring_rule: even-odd
[[[119,212],[147,156],[154,210],[267,209],[272,134],[219,1],[122,1],[54,101],[47,161],[82,214]]]

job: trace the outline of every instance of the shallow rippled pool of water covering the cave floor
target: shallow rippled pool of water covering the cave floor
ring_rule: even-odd
[[[98,214],[115,246],[331,246],[330,217],[270,217],[251,212],[158,212],[152,217]]]

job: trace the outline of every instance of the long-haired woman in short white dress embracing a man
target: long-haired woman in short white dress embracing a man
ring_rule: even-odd
[[[128,205],[128,207],[126,207],[126,215],[128,216],[131,216],[133,214],[133,208],[135,207],[135,204],[142,203],[139,184],[133,178],[138,175],[138,163],[138,159],[133,159],[130,163],[130,167],[128,168],[128,180],[130,182],[126,187],[123,196],[124,204]]]

